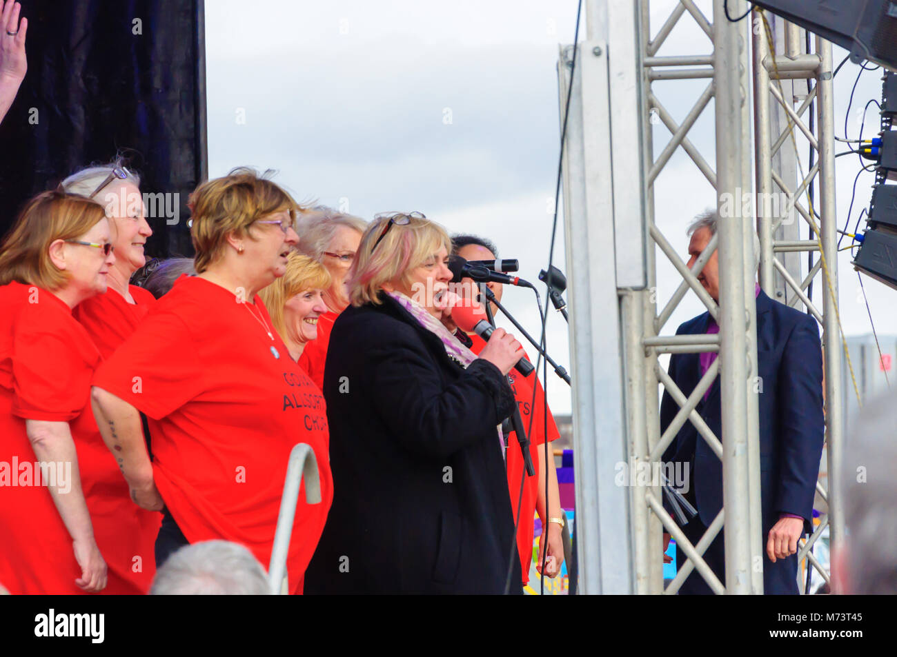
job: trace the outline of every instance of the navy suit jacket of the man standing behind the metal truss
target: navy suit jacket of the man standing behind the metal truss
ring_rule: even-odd
[[[676,334],[707,332],[710,313],[682,324]],[[757,297],[757,361],[762,392],[760,410],[760,478],[763,550],[766,534],[779,514],[804,518],[812,530],[813,499],[823,450],[823,361],[818,324],[812,316],[773,301],[762,291]],[[687,397],[701,378],[698,354],[674,354],[669,375]],[[675,417],[679,406],[664,393],[660,407],[661,431]],[[698,404],[716,436],[722,436],[719,377],[706,401]],[[666,449],[665,462],[692,465],[691,485],[701,523],[709,525],[723,504],[722,462],[686,421]],[[764,567],[777,564],[765,561]]]

